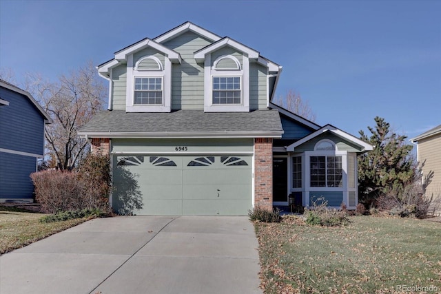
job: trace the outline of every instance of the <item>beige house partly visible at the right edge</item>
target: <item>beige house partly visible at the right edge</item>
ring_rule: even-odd
[[[423,177],[431,177],[426,195],[441,201],[441,125],[412,138],[411,142],[418,143],[417,160],[422,164]]]

